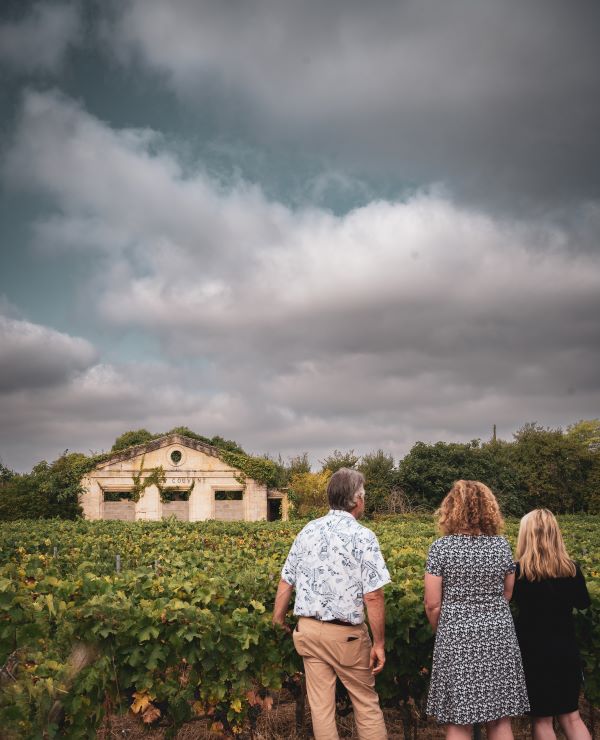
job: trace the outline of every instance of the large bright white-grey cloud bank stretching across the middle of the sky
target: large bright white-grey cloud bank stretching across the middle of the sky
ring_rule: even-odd
[[[157,367],[93,364],[60,393],[11,394],[39,450],[184,423],[256,452],[398,456],[600,408],[593,204],[576,229],[435,188],[343,216],[292,209],[184,172],[156,132],[56,92],[25,95],[3,173],[53,206],[39,248],[98,256],[80,289],[104,330],[162,349]]]

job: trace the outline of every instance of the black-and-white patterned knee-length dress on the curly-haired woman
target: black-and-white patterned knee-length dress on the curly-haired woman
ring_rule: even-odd
[[[515,627],[504,598],[514,571],[499,536],[454,534],[429,549],[427,572],[442,576],[427,714],[469,725],[529,710]]]

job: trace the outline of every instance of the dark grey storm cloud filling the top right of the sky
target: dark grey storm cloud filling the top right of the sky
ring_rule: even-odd
[[[600,195],[593,0],[116,8],[109,44],[124,62],[264,147],[441,181],[494,208],[561,211]]]

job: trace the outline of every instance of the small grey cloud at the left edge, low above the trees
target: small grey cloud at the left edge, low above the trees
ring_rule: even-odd
[[[95,361],[84,339],[0,316],[0,393],[56,387]]]

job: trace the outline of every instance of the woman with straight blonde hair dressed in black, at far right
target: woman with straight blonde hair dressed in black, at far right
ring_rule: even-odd
[[[513,598],[523,654],[535,740],[553,740],[552,718],[568,740],[589,740],[577,707],[581,661],[575,641],[573,608],[590,597],[581,569],[568,556],[556,518],[535,509],[521,519]]]

